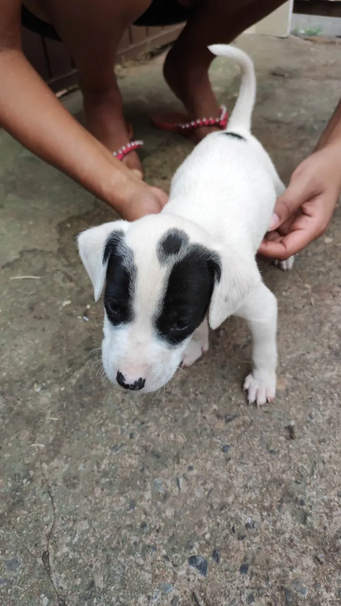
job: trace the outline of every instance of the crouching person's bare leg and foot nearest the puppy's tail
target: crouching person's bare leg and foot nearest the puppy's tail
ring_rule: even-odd
[[[211,88],[208,68],[214,56],[210,44],[230,44],[248,27],[260,21],[284,0],[180,0],[188,7],[192,1],[187,25],[168,52],[164,76],[173,93],[184,104],[190,119],[219,116],[219,104]],[[199,141],[214,126],[195,130]]]

